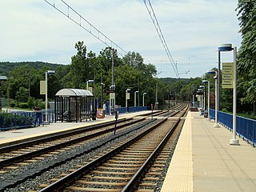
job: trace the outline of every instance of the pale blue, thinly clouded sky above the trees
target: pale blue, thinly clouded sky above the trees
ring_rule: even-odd
[[[47,0],[80,22],[61,0]],[[142,55],[154,64],[158,78],[177,78],[142,0],[65,0],[126,52]],[[178,67],[180,78],[202,77],[218,67],[218,46],[242,38],[235,0],[152,0],[162,34]],[[83,41],[97,55],[106,45],[54,9],[44,0],[0,0],[0,62],[51,62],[68,65]],[[97,36],[97,35],[96,35]],[[121,53],[121,52],[120,52]],[[125,53],[123,53],[125,54]],[[120,57],[122,55],[120,54]],[[222,62],[232,62],[232,52],[222,52]]]

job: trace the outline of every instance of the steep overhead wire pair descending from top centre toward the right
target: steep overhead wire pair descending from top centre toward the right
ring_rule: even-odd
[[[174,72],[175,72],[177,78],[179,78],[177,65],[176,65],[175,62],[174,62],[174,58],[173,58],[173,57],[171,56],[171,54],[170,54],[170,50],[169,50],[169,48],[168,48],[168,46],[167,46],[167,44],[166,44],[166,40],[165,40],[165,38],[164,38],[164,36],[163,36],[163,34],[162,34],[162,30],[161,30],[161,28],[160,28],[160,26],[159,26],[158,19],[157,19],[157,17],[156,17],[155,14],[154,14],[154,10],[153,10],[153,7],[152,7],[152,5],[151,5],[151,3],[150,3],[150,0],[147,1],[147,2],[149,3],[149,5],[147,5],[146,0],[143,0],[143,1],[144,1],[144,3],[145,3],[145,6],[146,6],[147,11],[148,11],[149,14],[150,14],[151,20],[152,20],[152,22],[154,23],[154,27],[155,27],[155,29],[156,29],[157,32],[158,32],[158,36],[159,36],[159,38],[160,38],[160,40],[161,40],[161,42],[162,42],[162,46],[163,46],[164,49],[166,50],[166,54],[167,54],[167,56],[168,56],[168,58],[169,58],[170,64],[171,64],[171,66],[173,67]]]

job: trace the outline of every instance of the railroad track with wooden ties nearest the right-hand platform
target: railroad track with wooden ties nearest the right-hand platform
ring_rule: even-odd
[[[185,113],[186,111],[183,112]],[[170,155],[170,151],[168,154],[166,150],[170,149],[170,142],[174,143],[170,136],[180,122],[179,118],[170,126],[170,122],[166,120],[167,118],[158,120],[157,124],[122,145],[86,165],[79,165],[80,168],[71,170],[71,174],[70,170],[67,170],[62,174],[65,177],[54,178],[52,181],[56,182],[49,186],[42,184],[44,189],[40,191],[134,191],[137,186],[154,187],[155,183],[152,182],[159,179],[159,171],[165,167],[164,160]],[[159,154],[161,151],[162,154]],[[141,181],[144,175],[146,178],[139,185],[138,181]]]

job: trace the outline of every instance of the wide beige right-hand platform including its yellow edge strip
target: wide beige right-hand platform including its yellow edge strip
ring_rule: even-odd
[[[198,112],[189,112],[161,192],[256,191],[256,150],[232,132],[214,128]]]

